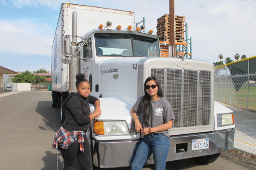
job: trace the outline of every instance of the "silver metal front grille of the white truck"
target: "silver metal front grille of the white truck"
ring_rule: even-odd
[[[172,105],[173,127],[209,125],[210,71],[152,68],[151,76],[157,77]]]

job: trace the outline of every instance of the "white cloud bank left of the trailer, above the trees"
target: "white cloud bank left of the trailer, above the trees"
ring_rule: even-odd
[[[54,32],[29,20],[0,20],[0,52],[51,55]]]

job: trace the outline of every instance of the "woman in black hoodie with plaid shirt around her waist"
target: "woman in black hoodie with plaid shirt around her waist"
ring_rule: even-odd
[[[90,145],[84,132],[91,127],[90,121],[101,115],[100,102],[90,95],[90,83],[84,79],[84,74],[76,75],[76,91],[77,93],[71,93],[63,103],[66,118],[54,137],[52,149],[61,150],[64,170],[73,170],[76,158],[83,170],[93,170]],[[92,114],[89,103],[96,107]]]

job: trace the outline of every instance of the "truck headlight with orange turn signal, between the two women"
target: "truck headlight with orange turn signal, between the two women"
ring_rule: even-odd
[[[126,121],[94,121],[93,132],[98,135],[129,134]]]

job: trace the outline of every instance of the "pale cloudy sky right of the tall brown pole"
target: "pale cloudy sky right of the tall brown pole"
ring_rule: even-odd
[[[184,5],[186,4],[186,5]],[[256,3],[238,1],[176,1],[176,14],[186,16],[192,37],[192,58],[209,62],[234,58],[236,53],[256,55]]]

